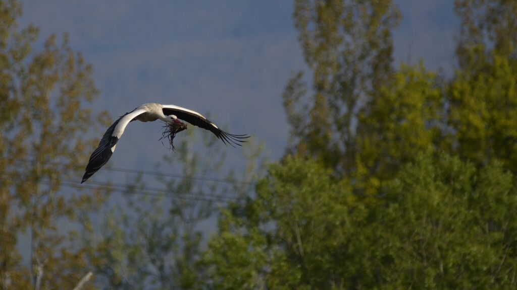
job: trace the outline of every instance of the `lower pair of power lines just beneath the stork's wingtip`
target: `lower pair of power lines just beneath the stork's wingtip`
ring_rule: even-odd
[[[0,173],[0,175],[8,175],[17,179],[28,178],[32,180],[36,180],[40,184],[52,185],[52,180],[48,181],[37,180],[35,176],[22,175],[17,173]],[[8,178],[0,177],[0,180],[10,180]],[[174,194],[171,191],[167,191],[160,188],[155,187],[141,187],[141,188],[128,188],[122,184],[110,184],[110,183],[101,183],[101,182],[90,182],[88,185],[78,185],[75,181],[63,180],[59,181],[59,184],[66,187],[72,187],[77,189],[94,189],[94,190],[103,190],[103,191],[115,191],[122,194],[136,194],[136,195],[148,195],[148,196],[156,196],[156,197],[167,197],[167,198],[176,198],[176,199],[185,199],[185,200],[195,200],[195,201],[237,201],[237,197],[229,197],[226,195],[223,196],[214,196],[214,195],[204,195],[202,192],[197,193],[183,193],[180,195]],[[169,194],[167,194],[169,193]]]

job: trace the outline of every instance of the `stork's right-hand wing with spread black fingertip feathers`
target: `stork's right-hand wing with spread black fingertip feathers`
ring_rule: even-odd
[[[183,107],[175,106],[175,105],[162,105],[163,114],[166,116],[175,115],[178,119],[187,121],[194,126],[198,126],[205,130],[209,130],[214,133],[217,138],[221,139],[225,144],[228,143],[231,146],[237,145],[241,146],[241,142],[246,142],[244,139],[249,138],[250,136],[243,135],[235,135],[222,131],[216,124],[210,122],[203,115],[195,112],[193,110],[189,110]],[[235,146],[234,146],[235,147]]]

